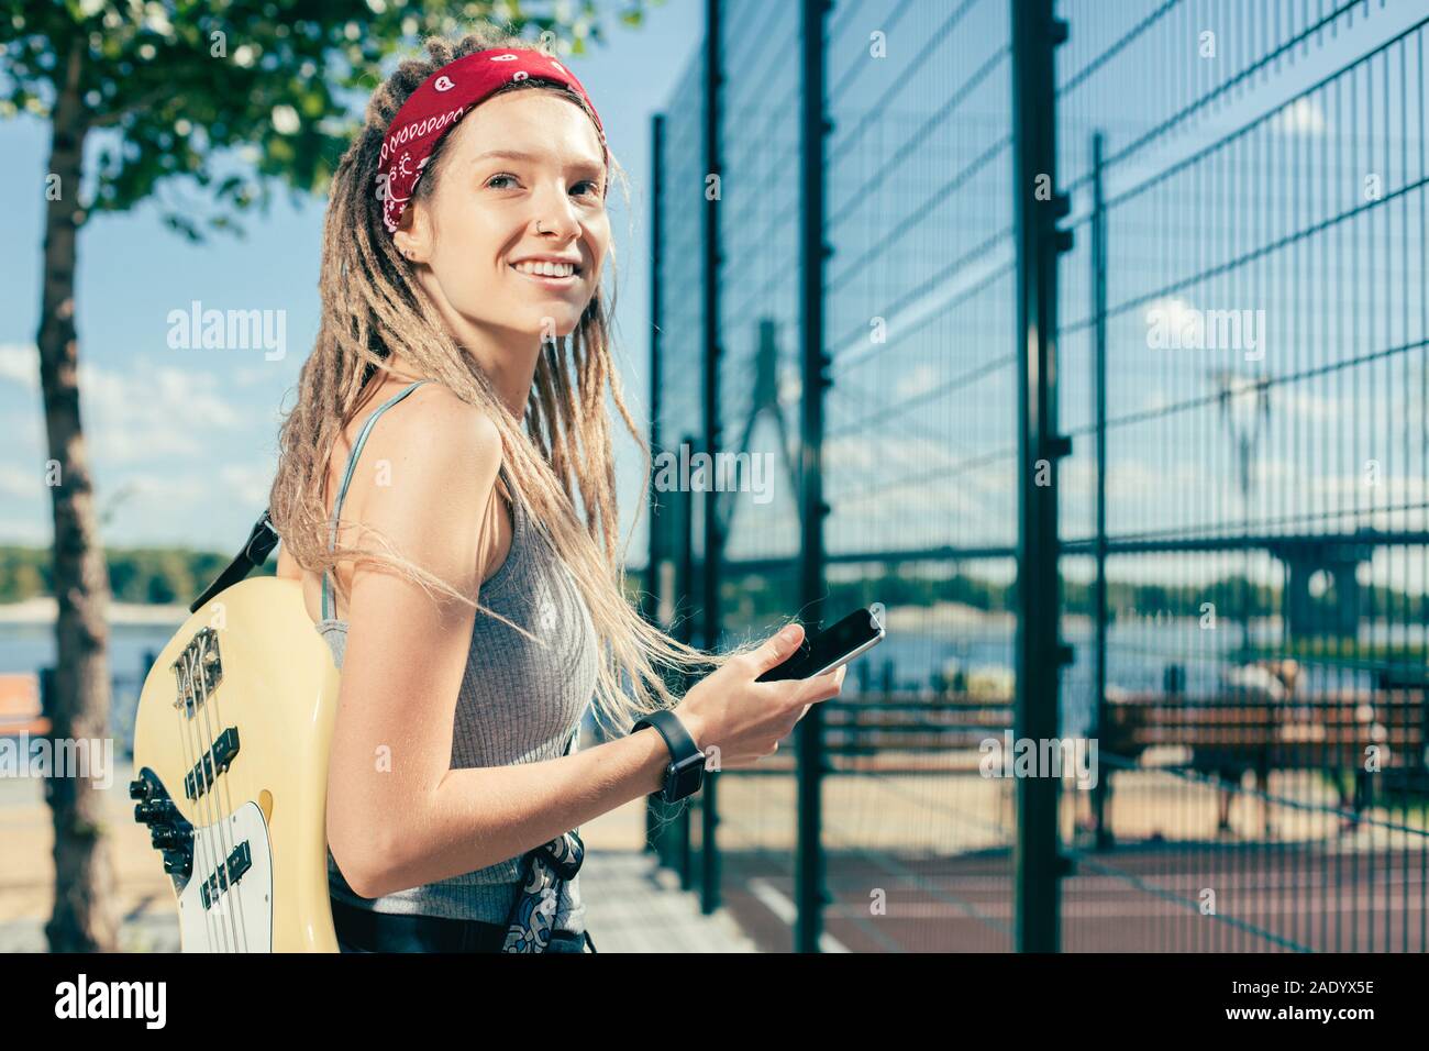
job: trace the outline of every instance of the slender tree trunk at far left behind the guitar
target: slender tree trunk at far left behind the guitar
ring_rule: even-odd
[[[94,492],[80,426],[79,343],[74,333],[74,259],[87,117],[81,97],[86,40],[70,44],[57,92],[50,173],[59,194],[44,219],[44,287],[40,302],[40,388],[50,462],[46,482],[54,510],[56,659],[47,715],[57,742],[103,758],[109,736],[109,571],[94,515]],[[80,745],[79,742],[86,742]],[[74,751],[77,751],[77,748]],[[57,751],[56,755],[63,755]],[[80,771],[56,765],[46,781],[54,815],[54,911],[44,934],[51,952],[114,951],[114,861],[104,835],[104,791]],[[120,782],[123,784],[123,782]]]

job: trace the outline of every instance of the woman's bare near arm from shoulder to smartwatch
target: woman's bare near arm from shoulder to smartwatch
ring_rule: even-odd
[[[493,555],[479,523],[500,462],[492,420],[423,386],[369,433],[344,520],[354,508],[413,562],[470,593]],[[520,855],[662,785],[669,754],[654,731],[544,762],[450,769],[474,616],[382,566],[353,573],[327,839],[364,898]],[[512,698],[513,711],[526,704]]]

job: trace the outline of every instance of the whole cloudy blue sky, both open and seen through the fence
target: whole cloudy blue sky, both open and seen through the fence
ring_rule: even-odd
[[[1159,9],[1159,0],[1123,0],[1116,6],[1067,0],[1065,7],[1076,27],[1063,57],[1066,76],[1090,63],[1142,14]],[[786,416],[797,423],[797,273],[789,266],[797,233],[797,209],[790,196],[797,186],[797,107],[785,104],[793,97],[796,69],[779,60],[780,46],[793,39],[796,20],[790,10],[743,0],[732,4],[727,20],[739,27],[732,33],[732,67],[777,67],[779,77],[733,77],[729,86],[730,112],[736,113],[732,127],[737,132],[757,119],[762,134],[736,133],[727,140],[726,200],[735,207],[726,250],[737,263],[726,276],[726,310],[733,315],[726,319],[726,339],[739,359],[752,339],[750,319],[767,315],[782,320],[783,365],[792,369],[795,382],[780,396]],[[1137,37],[1115,61],[1097,64],[1099,71],[1080,89],[1065,93],[1059,102],[1060,179],[1076,183],[1086,170],[1093,129],[1107,134],[1115,153],[1208,84],[1222,83],[1263,54],[1265,24],[1252,20],[1252,26],[1243,26],[1240,10],[1212,0],[1183,0],[1173,6],[1175,17],[1169,16],[1167,23]],[[1282,10],[1300,20],[1315,16],[1309,4]],[[892,17],[905,11],[910,13],[902,20]],[[826,465],[835,478],[829,490],[835,503],[829,523],[833,551],[976,546],[1015,533],[1010,452],[982,462],[989,450],[1015,443],[1010,239],[956,273],[942,273],[952,259],[1012,222],[1006,149],[996,163],[977,169],[976,182],[956,193],[942,189],[1006,133],[1006,63],[982,82],[956,122],[937,126],[936,134],[926,139],[910,139],[946,109],[1006,39],[1000,0],[983,0],[970,11],[957,33],[940,31],[947,16],[936,3],[860,4],[843,9],[835,20],[839,33],[830,40],[829,59],[830,84],[839,86],[833,99],[839,130],[829,157],[827,233],[836,246],[830,270],[836,286],[827,306],[836,366],[826,443]],[[759,19],[743,17],[750,13]],[[1306,372],[1310,365],[1332,365],[1423,339],[1425,256],[1412,222],[1425,207],[1422,187],[1402,194],[1390,207],[1370,210],[1356,224],[1336,224],[1325,236],[1305,237],[1303,247],[1275,249],[1259,269],[1238,266],[1175,296],[1120,309],[1212,262],[1243,255],[1266,239],[1305,230],[1360,203],[1370,167],[1383,169],[1389,192],[1423,177],[1419,136],[1425,109],[1415,97],[1418,82],[1400,82],[1402,53],[1389,63],[1356,66],[1353,74],[1282,109],[1312,84],[1418,24],[1423,6],[1395,0],[1383,7],[1372,4],[1369,13],[1356,14],[1353,23],[1339,20],[1332,33],[1319,34],[1310,47],[1296,49],[1278,63],[1272,76],[1248,80],[1243,90],[1177,122],[1175,133],[1112,164],[1107,173],[1109,199],[1116,202],[1109,398],[1113,418],[1147,415],[1145,422],[1117,426],[1110,435],[1113,533],[1186,532],[1208,522],[1235,526],[1243,513],[1232,440],[1218,406],[1212,402],[1176,412],[1163,409],[1203,396],[1212,370],[1245,366],[1235,360],[1236,352],[1153,350],[1146,337],[1152,307],[1180,313],[1263,309],[1269,353],[1260,367],[1270,375]],[[616,352],[632,410],[640,419],[647,418],[650,116],[670,99],[694,54],[702,17],[702,3],[669,0],[652,13],[647,26],[613,26],[604,50],[573,61],[632,179],[632,209],[626,210],[620,194],[612,194],[610,204],[619,255]],[[1290,30],[1289,24],[1276,27]],[[1199,34],[1208,29],[1219,33],[1219,61],[1198,54]],[[883,60],[869,54],[875,30],[887,36]],[[937,46],[933,60],[915,63],[929,41]],[[1410,74],[1418,70],[1420,46],[1412,43]],[[1255,153],[1230,154],[1225,170],[1236,174],[1229,196],[1225,180],[1218,182],[1222,169],[1186,163],[1195,150],[1268,114],[1273,119],[1248,136]],[[1395,133],[1386,134],[1386,127]],[[916,149],[909,149],[910,142]],[[9,442],[0,448],[0,542],[49,542],[43,422],[31,347],[47,144],[47,133],[36,122],[0,123],[0,150],[13,159],[0,169],[0,187],[11,202],[0,219],[9,249],[0,257],[7,307],[0,313],[0,418],[11,425]],[[1130,196],[1156,173],[1177,169],[1179,180]],[[1063,535],[1069,538],[1089,533],[1095,492],[1092,442],[1085,433],[1090,353],[1086,326],[1079,325],[1087,307],[1086,209],[1082,183],[1073,193],[1069,219],[1079,227],[1076,247],[1062,265],[1062,325],[1067,327],[1059,349],[1062,426],[1083,432],[1059,480]],[[84,410],[107,542],[229,551],[247,536],[273,472],[279,409],[290,405],[317,327],[322,217],[323,202],[294,209],[280,194],[267,222],[249,222],[246,242],[190,247],[163,230],[149,206],[127,216],[100,217],[83,235],[79,305],[81,356],[89,370]],[[1363,259],[1356,252],[1363,252]],[[1372,259],[1383,273],[1358,266],[1356,259]],[[966,289],[997,267],[1006,270],[999,286],[962,302]],[[910,289],[925,295],[905,302]],[[169,349],[169,312],[186,309],[193,300],[204,307],[286,310],[284,359],[264,362],[262,350]],[[873,353],[866,345],[867,323],[875,316],[889,323],[886,352]],[[1336,327],[1342,322],[1343,332]],[[853,345],[839,342],[850,333]],[[672,333],[672,346],[674,342]],[[956,388],[949,396],[920,396],[947,389],[997,357],[1007,359],[1003,367],[987,372],[975,386]],[[1429,366],[1422,357],[1390,355],[1383,362],[1328,369],[1318,378],[1279,385],[1270,428],[1253,465],[1255,516],[1282,518],[1296,529],[1320,528],[1322,520],[1335,529],[1422,522],[1429,478],[1429,446],[1422,443]],[[692,393],[697,378],[682,373],[669,379],[672,393],[682,386]],[[742,422],[737,385],[726,388],[735,425]],[[632,536],[629,561],[642,565],[646,529],[643,519],[634,519],[642,485],[639,460],[633,443],[620,440],[619,422],[613,433],[622,520]],[[766,422],[756,429],[753,448],[772,449],[772,442]],[[1382,478],[1373,488],[1365,482],[1369,460]],[[793,493],[780,478],[775,480],[772,503],[740,509],[733,553],[795,549]],[[1366,582],[1425,586],[1422,558],[1403,566],[1388,555],[1380,551],[1372,566],[1363,566]],[[1153,562],[1139,563],[1139,572],[1167,581],[1202,579],[1208,573],[1203,561]],[[1010,562],[1005,568],[1010,569]],[[1079,568],[1075,563],[1070,572]],[[1269,559],[1258,559],[1250,572],[1269,579],[1276,568]]]

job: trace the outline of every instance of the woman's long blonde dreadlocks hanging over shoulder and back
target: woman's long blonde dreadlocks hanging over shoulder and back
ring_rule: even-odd
[[[360,523],[339,523],[339,542],[327,549],[327,463],[337,438],[353,419],[362,392],[396,349],[420,376],[430,378],[497,425],[507,473],[537,535],[550,543],[570,569],[600,638],[600,673],[593,698],[596,716],[622,731],[677,698],[666,673],[709,672],[756,643],[745,642],[723,653],[692,648],[649,623],[627,601],[624,555],[617,552],[614,463],[604,408],[609,383],[620,412],[644,459],[642,503],[649,493],[650,450],[630,416],[612,367],[609,313],[597,289],[580,323],[566,337],[547,337],[526,405],[524,428],[502,405],[490,379],[463,353],[442,325],[434,305],[413,280],[412,265],[397,250],[382,222],[382,202],[373,192],[383,136],[407,97],[449,61],[492,47],[529,47],[530,41],[492,23],[476,23],[459,43],[444,37],[424,41],[426,56],[402,61],[373,93],[366,123],[343,154],[333,176],[332,200],[323,229],[319,289],[322,323],[313,353],[299,375],[297,400],[283,418],[279,436],[279,469],[270,493],[269,515],[293,559],[310,572],[326,572],[343,561],[389,566],[427,593],[440,592],[466,602],[477,615],[494,616],[526,638],[536,639],[472,596],[414,565],[380,531]],[[507,90],[554,90],[589,107],[564,84],[530,77]],[[494,97],[494,96],[493,96]],[[442,143],[450,140],[444,137]],[[442,143],[432,154],[414,197],[427,197],[442,176]],[[612,166],[622,176],[623,170]],[[629,190],[624,189],[629,202]],[[612,262],[614,253],[612,252]],[[583,520],[576,512],[576,492]],[[340,536],[356,529],[372,543],[346,543]],[[342,595],[349,588],[339,583]],[[477,595],[477,599],[480,596]],[[672,684],[687,681],[672,675]]]

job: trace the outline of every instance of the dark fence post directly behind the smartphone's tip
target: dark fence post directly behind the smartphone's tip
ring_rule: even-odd
[[[802,13],[802,114],[799,212],[799,280],[802,300],[803,390],[800,395],[800,561],[799,609],[809,623],[823,621],[825,553],[823,520],[823,399],[829,388],[829,357],[823,345],[825,263],[833,249],[823,240],[825,147],[833,124],[827,113],[825,21],[829,0],[803,0]],[[795,864],[795,952],[817,952],[823,934],[823,705],[813,705],[799,721],[799,851]]]

